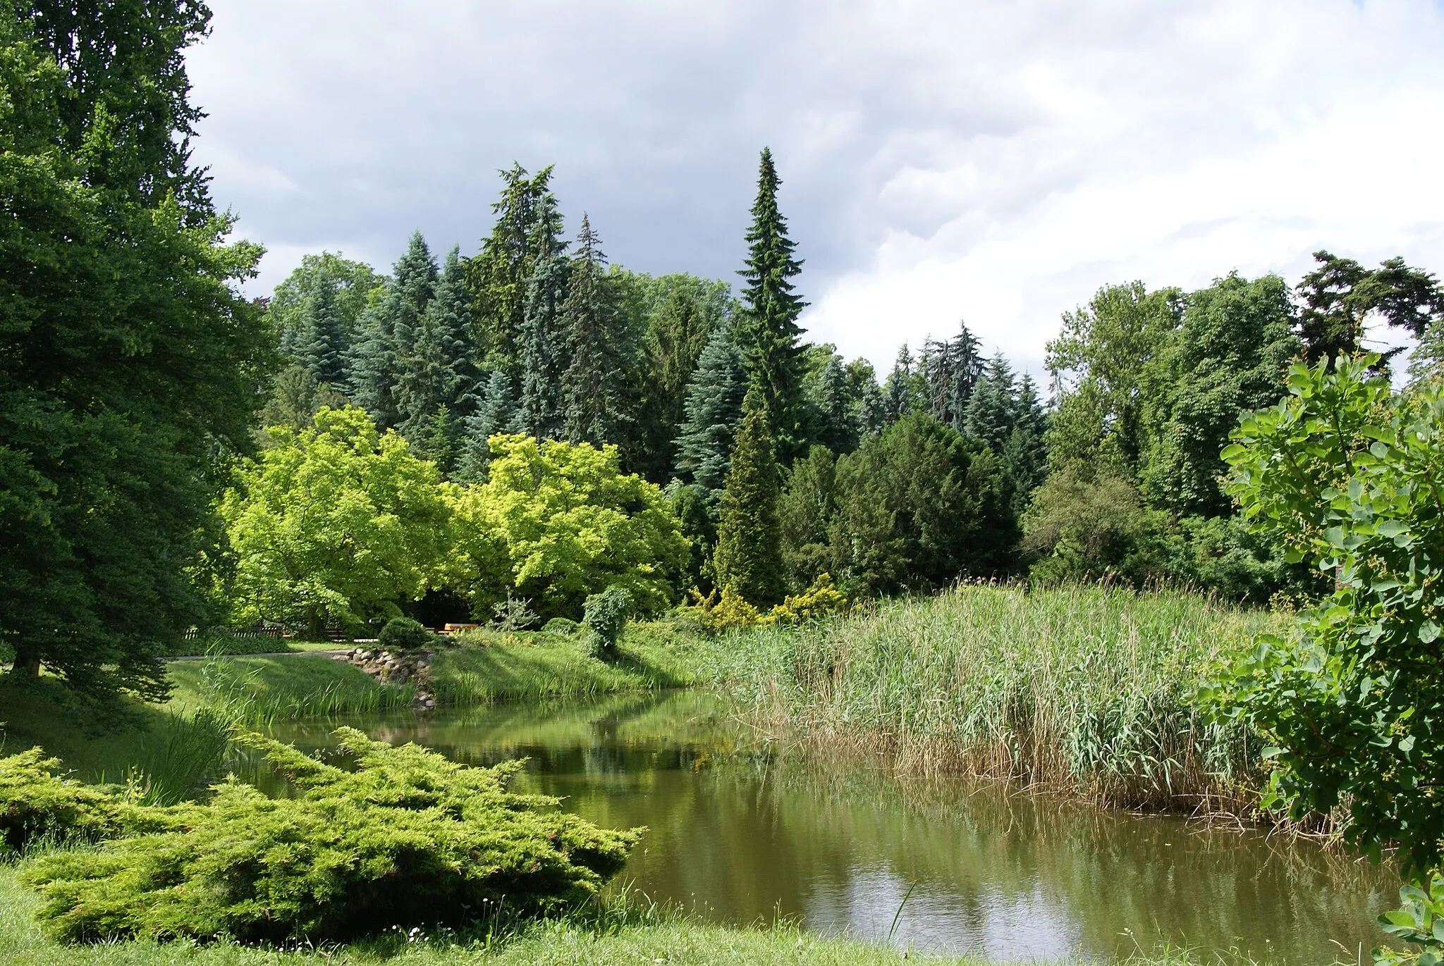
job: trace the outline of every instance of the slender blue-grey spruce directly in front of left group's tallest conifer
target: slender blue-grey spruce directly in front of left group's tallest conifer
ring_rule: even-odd
[[[572,267],[560,250],[537,261],[527,293],[521,323],[521,430],[537,439],[562,439],[566,417],[562,409],[562,378],[570,354],[562,310],[566,305]]]

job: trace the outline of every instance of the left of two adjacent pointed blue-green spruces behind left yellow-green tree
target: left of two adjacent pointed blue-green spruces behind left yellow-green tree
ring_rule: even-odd
[[[422,232],[413,232],[397,258],[377,305],[357,321],[360,338],[351,352],[351,397],[381,429],[401,422],[396,386],[412,354],[422,313],[432,300],[439,270]]]

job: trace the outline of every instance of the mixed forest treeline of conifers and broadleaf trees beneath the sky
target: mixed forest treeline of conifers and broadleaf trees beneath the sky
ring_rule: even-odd
[[[695,546],[677,589],[732,583],[758,604],[823,573],[851,593],[1021,575],[1317,591],[1251,536],[1219,453],[1242,412],[1287,393],[1292,360],[1359,351],[1379,318],[1424,341],[1424,370],[1444,315],[1430,273],[1320,251],[1295,286],[1105,286],[1048,344],[1047,400],[966,325],[901,347],[879,378],[804,341],[768,152],[738,290],[608,264],[585,215],[567,240],[550,166],[500,173],[471,257],[414,234],[388,276],[303,260],[267,305],[289,365],[261,423],[357,406],[458,484],[487,481],[498,433],[615,446]]]

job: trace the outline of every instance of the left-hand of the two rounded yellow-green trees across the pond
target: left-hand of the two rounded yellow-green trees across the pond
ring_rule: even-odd
[[[365,412],[321,410],[274,445],[221,500],[235,554],[232,618],[364,627],[438,586],[449,550],[436,466]]]

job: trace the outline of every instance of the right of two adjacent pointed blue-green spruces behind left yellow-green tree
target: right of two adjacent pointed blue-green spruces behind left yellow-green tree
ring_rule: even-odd
[[[461,257],[452,248],[435,293],[417,322],[410,352],[399,360],[396,409],[401,433],[413,445],[419,445],[423,436],[440,439],[435,432],[435,420],[442,409],[449,414],[465,412],[466,390],[477,381],[466,315]],[[442,453],[435,448],[426,456],[438,464],[452,462],[451,452]]]

